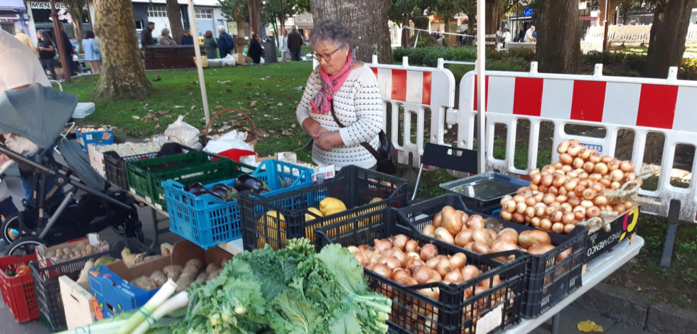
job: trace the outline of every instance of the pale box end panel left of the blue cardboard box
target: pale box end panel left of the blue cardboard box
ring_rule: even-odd
[[[60,298],[63,300],[67,329],[72,330],[94,323],[94,309],[92,308],[90,291],[67,276],[58,277],[58,284],[60,285]]]

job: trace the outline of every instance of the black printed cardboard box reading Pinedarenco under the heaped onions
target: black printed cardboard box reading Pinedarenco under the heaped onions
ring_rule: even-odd
[[[588,233],[585,247],[585,262],[593,261],[596,257],[602,255],[608,250],[615,247],[620,241],[629,238],[633,239],[637,233],[637,221],[639,219],[639,207],[634,207],[630,211],[620,214],[615,221],[610,223],[610,232],[600,228],[592,233]]]

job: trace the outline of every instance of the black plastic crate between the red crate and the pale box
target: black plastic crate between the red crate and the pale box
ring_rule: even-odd
[[[87,261],[97,260],[99,257],[105,256],[120,259],[121,253],[117,250],[109,250],[58,264],[53,264],[53,260],[40,260],[29,264],[31,276],[34,279],[34,290],[36,291],[41,320],[51,331],[67,329],[58,277],[66,275],[73,281],[77,281],[77,277],[80,276],[80,271],[85,267]]]

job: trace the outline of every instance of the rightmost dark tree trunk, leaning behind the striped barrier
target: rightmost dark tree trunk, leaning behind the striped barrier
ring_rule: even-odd
[[[668,68],[680,66],[690,25],[693,0],[659,0],[651,26],[643,77],[666,78]]]

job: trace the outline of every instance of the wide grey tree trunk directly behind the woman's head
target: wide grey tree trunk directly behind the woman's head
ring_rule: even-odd
[[[372,55],[377,55],[379,62],[391,64],[387,26],[389,3],[389,0],[310,0],[310,7],[315,23],[334,19],[352,30],[357,60],[371,62]]]

